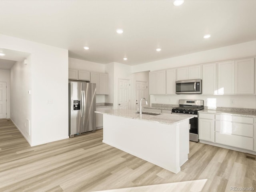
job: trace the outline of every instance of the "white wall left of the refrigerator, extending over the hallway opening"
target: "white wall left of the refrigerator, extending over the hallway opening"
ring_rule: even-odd
[[[0,48],[30,53],[30,145],[68,138],[68,50],[2,34]]]

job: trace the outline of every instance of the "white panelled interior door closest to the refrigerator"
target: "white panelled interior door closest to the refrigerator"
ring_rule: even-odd
[[[118,109],[130,109],[130,80],[118,79]]]

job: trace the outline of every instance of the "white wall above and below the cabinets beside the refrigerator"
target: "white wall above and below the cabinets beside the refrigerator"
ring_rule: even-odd
[[[76,70],[85,70],[90,72],[105,73],[105,65],[86,60],[68,58],[68,68]],[[96,95],[96,103],[104,103],[104,95]]]

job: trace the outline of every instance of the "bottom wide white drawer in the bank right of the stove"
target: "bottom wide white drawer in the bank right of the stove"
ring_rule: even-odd
[[[253,150],[253,138],[215,132],[215,142],[242,149]]]

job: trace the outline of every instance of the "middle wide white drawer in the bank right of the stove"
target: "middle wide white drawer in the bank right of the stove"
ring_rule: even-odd
[[[230,121],[215,121],[215,131],[253,137],[252,124],[241,124]]]

